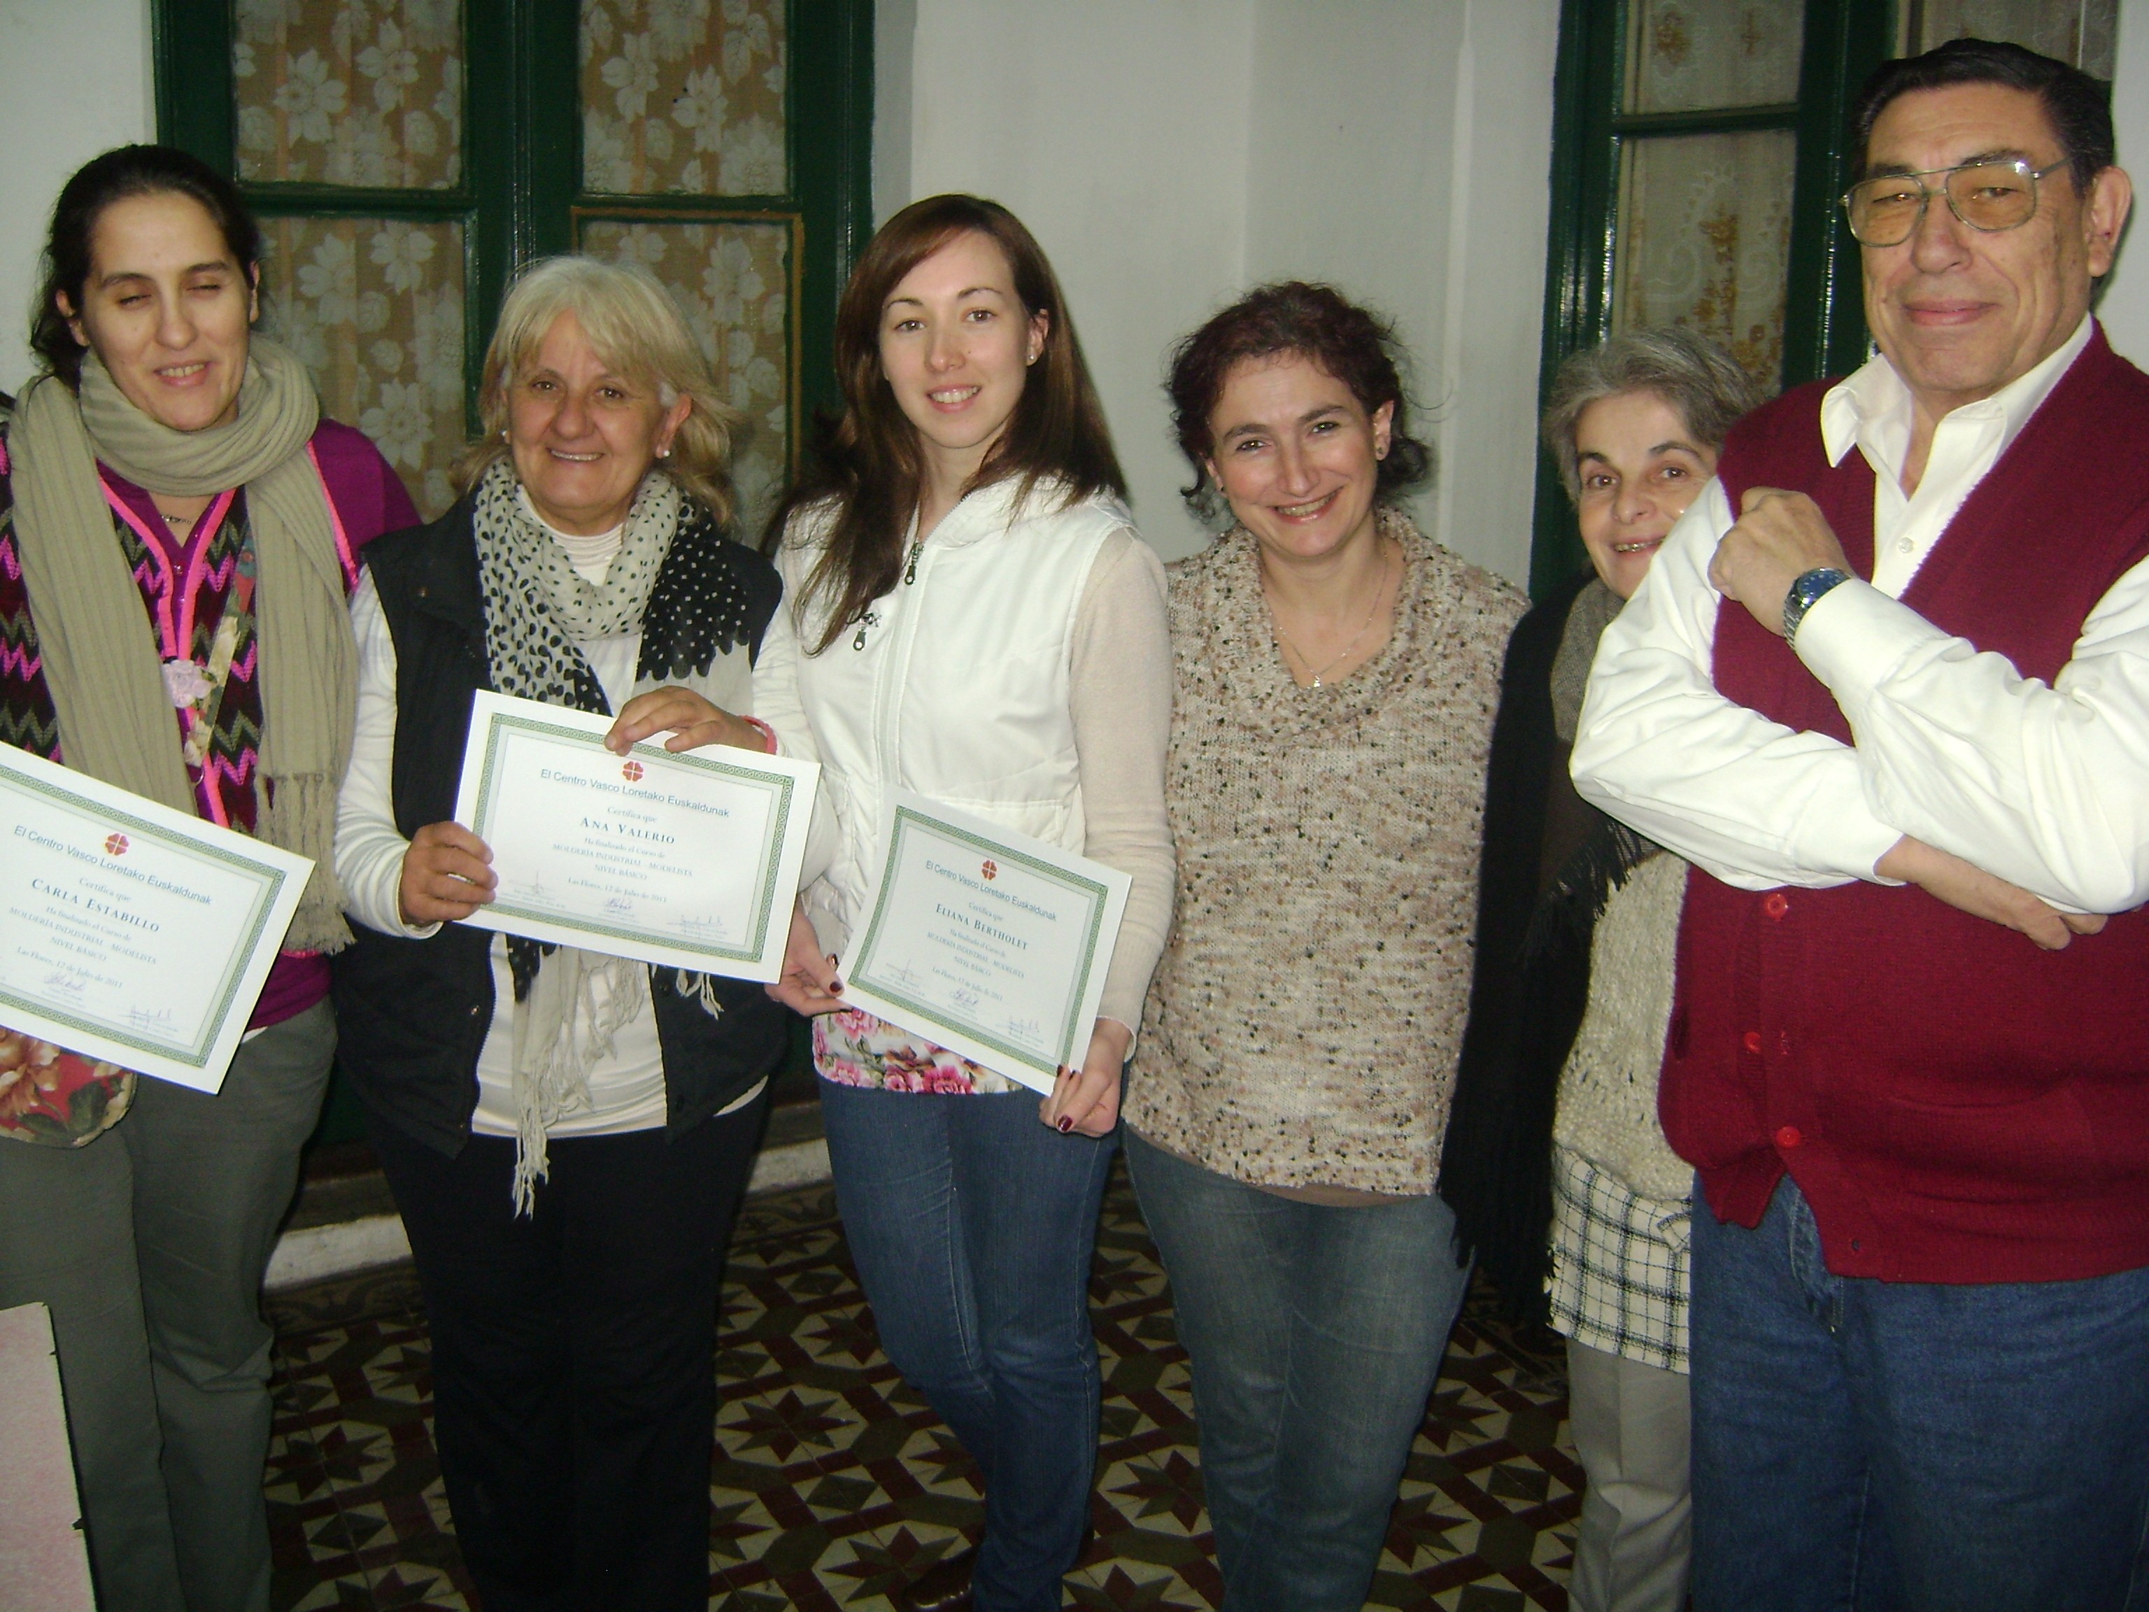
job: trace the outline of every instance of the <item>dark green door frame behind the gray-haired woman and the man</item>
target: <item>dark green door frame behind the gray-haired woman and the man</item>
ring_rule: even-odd
[[[1792,129],[1790,262],[1784,299],[1784,385],[1844,374],[1865,357],[1857,245],[1835,198],[1848,183],[1848,110],[1893,49],[1893,0],[1805,0],[1799,99],[1736,112],[1620,114],[1631,0],[1560,6],[1552,88],[1552,228],[1539,398],[1571,352],[1612,327],[1620,144],[1638,135]],[[1588,565],[1567,488],[1545,456],[1537,469],[1530,593],[1543,598]]]

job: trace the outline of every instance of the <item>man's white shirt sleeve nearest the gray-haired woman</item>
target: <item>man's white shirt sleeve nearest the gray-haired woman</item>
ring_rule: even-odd
[[[1708,561],[1730,529],[1730,499],[1711,479],[1605,628],[1575,735],[1575,789],[1741,890],[1874,879],[1904,830],[1874,810],[1857,752],[1717,692]]]

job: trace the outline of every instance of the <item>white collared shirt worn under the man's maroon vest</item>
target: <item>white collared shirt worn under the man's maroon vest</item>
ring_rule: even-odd
[[[2149,561],[2089,613],[2050,686],[1900,602],[2091,331],[2085,318],[2035,370],[1949,413],[1910,496],[1910,393],[1887,359],[1822,398],[1831,464],[1857,447],[1874,466],[1874,580],[1814,604],[1797,653],[1855,748],[1715,690],[1708,561],[1736,516],[1711,481],[1603,634],[1573,754],[1582,795],[1741,890],[1876,879],[1908,834],[2074,911],[2149,898]]]

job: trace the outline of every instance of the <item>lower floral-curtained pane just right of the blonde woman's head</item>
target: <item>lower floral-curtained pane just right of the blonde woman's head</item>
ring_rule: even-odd
[[[756,537],[791,475],[791,226],[585,224],[582,249],[647,267],[679,301],[718,393],[744,417],[731,475],[739,533]]]

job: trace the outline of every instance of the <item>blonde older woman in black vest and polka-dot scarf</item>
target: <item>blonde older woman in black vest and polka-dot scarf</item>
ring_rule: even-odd
[[[731,415],[647,273],[531,269],[484,415],[464,499],[370,550],[352,602],[342,1064],[410,1229],[486,1606],[703,1608],[716,1292],[787,1014],[464,926],[494,877],[449,819],[475,690],[750,709],[780,587],[724,537]]]

